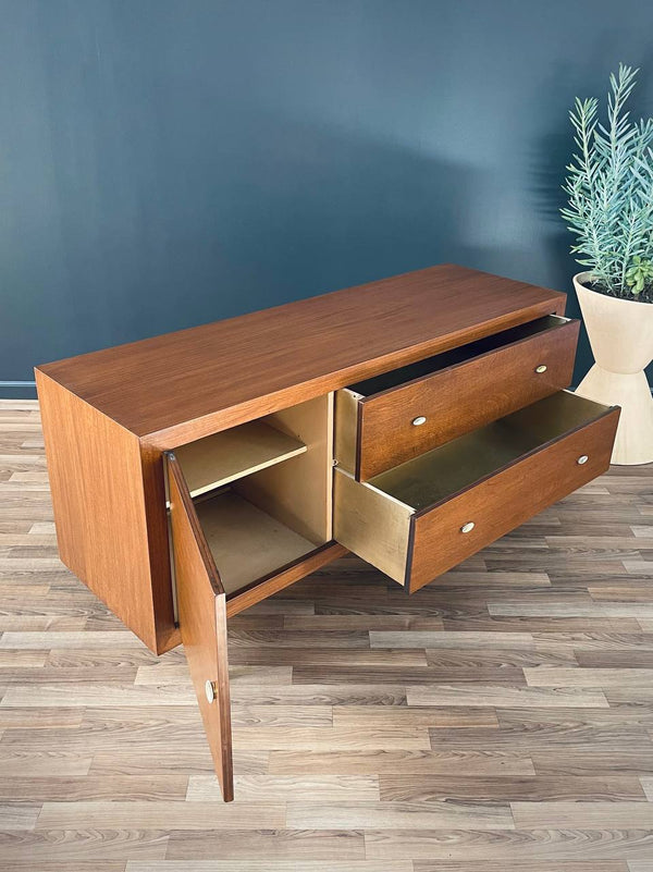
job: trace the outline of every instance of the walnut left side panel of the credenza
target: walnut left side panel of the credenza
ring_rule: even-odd
[[[38,370],[36,382],[61,560],[156,651],[139,440]]]

